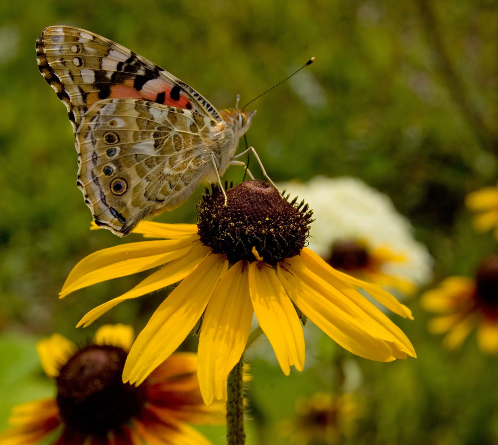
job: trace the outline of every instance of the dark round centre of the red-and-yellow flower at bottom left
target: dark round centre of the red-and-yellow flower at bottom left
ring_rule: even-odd
[[[116,346],[90,345],[61,368],[57,405],[69,428],[105,435],[138,414],[145,401],[145,386],[123,383],[126,356]]]

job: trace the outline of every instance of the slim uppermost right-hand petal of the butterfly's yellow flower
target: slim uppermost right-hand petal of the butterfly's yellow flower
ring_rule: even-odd
[[[322,258],[320,258],[319,255],[306,247],[301,251],[301,257],[306,263],[307,268],[310,269],[315,275],[322,277],[326,281],[332,279],[332,277],[339,278],[340,280],[351,286],[360,287],[367,291],[380,304],[383,304],[392,312],[397,313],[402,317],[413,319],[411,310],[408,309],[408,307],[406,307],[404,304],[401,304],[396,298],[394,298],[388,292],[382,290],[379,286],[367,283],[357,278],[353,278],[348,274],[344,274],[343,272],[339,272],[338,270],[333,269]]]

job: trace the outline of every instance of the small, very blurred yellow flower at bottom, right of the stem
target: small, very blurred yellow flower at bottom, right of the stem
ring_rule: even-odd
[[[333,445],[342,443],[355,430],[359,406],[352,394],[318,392],[295,404],[296,416],[281,424],[282,436],[292,444]]]

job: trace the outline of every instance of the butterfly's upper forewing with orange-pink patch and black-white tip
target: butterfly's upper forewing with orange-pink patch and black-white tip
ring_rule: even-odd
[[[36,42],[38,67],[68,108],[76,133],[83,115],[108,98],[145,99],[220,121],[192,87],[109,39],[72,26],[49,26]]]

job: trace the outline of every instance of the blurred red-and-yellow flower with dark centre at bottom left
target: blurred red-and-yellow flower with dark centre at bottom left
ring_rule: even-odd
[[[206,407],[193,353],[168,357],[139,386],[123,383],[133,330],[104,325],[78,348],[59,334],[41,340],[42,367],[57,396],[18,405],[1,445],[210,444],[185,422],[222,423],[220,404]]]

